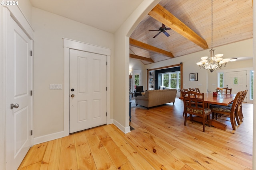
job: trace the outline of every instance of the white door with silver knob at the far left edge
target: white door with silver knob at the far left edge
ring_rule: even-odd
[[[6,166],[14,170],[31,147],[32,42],[14,20],[7,26]]]

